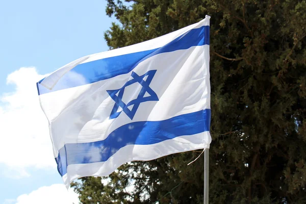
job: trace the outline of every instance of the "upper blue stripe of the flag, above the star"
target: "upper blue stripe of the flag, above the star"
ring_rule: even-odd
[[[207,25],[201,28],[192,29],[160,48],[79,64],[64,74],[52,90],[48,90],[43,86],[38,85],[38,92],[39,94],[44,94],[110,79],[120,74],[129,73],[140,62],[157,54],[173,52],[180,49],[188,49],[192,46],[205,44],[209,45],[209,26]],[[75,76],[75,73],[80,74],[83,77],[82,80],[71,79],[69,72],[73,72],[73,76]],[[41,81],[38,83],[40,84]]]

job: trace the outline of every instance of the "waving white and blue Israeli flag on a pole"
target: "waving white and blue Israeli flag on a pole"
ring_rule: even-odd
[[[209,19],[83,57],[37,83],[67,187],[126,162],[209,148]]]

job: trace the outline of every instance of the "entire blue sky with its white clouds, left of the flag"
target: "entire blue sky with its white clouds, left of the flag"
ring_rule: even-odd
[[[108,50],[104,32],[114,19],[105,7],[104,0],[1,1],[0,204],[75,198],[63,189],[34,89],[44,74]]]

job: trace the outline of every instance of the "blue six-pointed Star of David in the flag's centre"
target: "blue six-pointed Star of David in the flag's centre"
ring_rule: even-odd
[[[141,103],[144,103],[146,101],[158,101],[157,94],[149,87],[155,73],[157,70],[150,70],[146,72],[145,74],[139,76],[134,71],[132,72],[132,78],[130,81],[127,81],[122,88],[116,89],[116,90],[107,90],[108,94],[111,96],[111,98],[115,101],[114,108],[111,112],[110,119],[116,118],[120,115],[120,113],[123,111],[131,120],[133,120],[133,117],[136,114],[136,111]],[[147,76],[147,79],[144,81],[144,78]],[[124,104],[122,101],[122,96],[124,93],[124,88],[127,86],[130,86],[135,83],[139,83],[142,88],[137,96],[136,99],[131,100],[129,103]],[[119,92],[119,93],[118,93]],[[149,96],[144,97],[145,93],[148,93]],[[117,94],[118,93],[118,94]],[[132,110],[130,110],[127,107],[133,106]],[[119,107],[122,108],[122,111],[118,111]]]

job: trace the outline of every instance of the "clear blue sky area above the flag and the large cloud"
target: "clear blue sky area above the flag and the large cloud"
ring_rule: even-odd
[[[8,90],[6,76],[19,67],[35,66],[47,73],[107,50],[103,33],[112,19],[105,7],[104,0],[2,1],[0,90]]]

